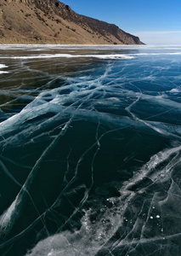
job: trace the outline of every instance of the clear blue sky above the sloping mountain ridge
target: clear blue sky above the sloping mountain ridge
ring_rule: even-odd
[[[181,0],[60,0],[81,15],[116,24],[146,44],[181,44]]]

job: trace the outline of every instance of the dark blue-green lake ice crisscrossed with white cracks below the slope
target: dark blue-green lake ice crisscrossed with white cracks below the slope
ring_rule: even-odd
[[[108,49],[126,55],[82,54]],[[37,51],[7,63],[16,79],[0,90],[2,255],[179,256],[179,60],[124,50],[135,58],[41,61]]]

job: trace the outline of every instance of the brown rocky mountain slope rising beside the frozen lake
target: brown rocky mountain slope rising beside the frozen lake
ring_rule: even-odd
[[[0,0],[0,44],[142,44],[56,0]]]

